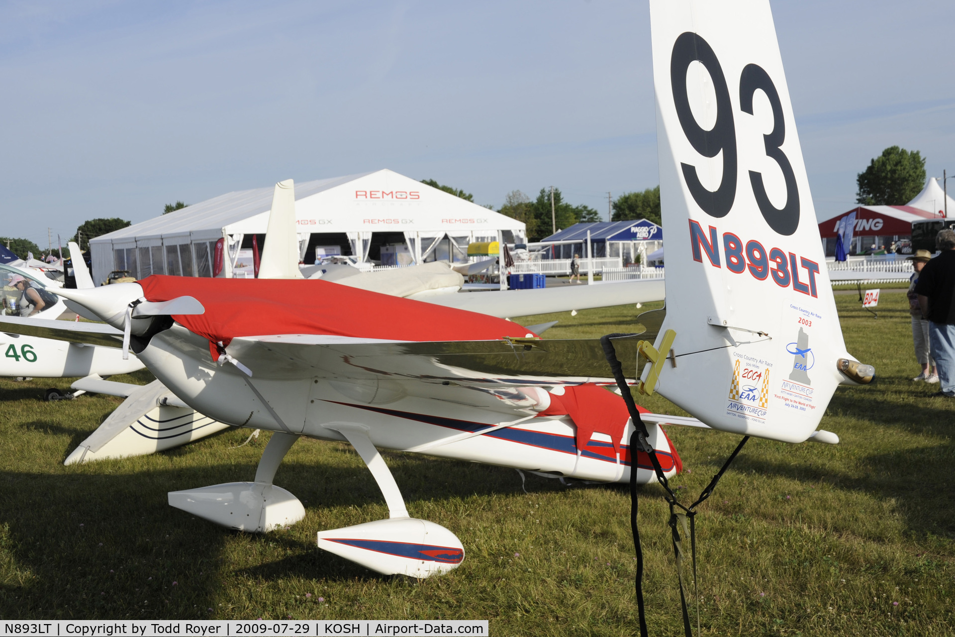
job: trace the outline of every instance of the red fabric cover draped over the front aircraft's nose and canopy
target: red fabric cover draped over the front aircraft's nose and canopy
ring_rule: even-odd
[[[329,281],[202,279],[154,274],[138,284],[147,301],[195,297],[205,313],[173,319],[211,343],[222,341],[226,346],[239,336],[270,334],[393,341],[491,341],[529,333],[516,323],[492,316]]]

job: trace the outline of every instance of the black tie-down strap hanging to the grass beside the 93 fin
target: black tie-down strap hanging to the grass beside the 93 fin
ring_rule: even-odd
[[[673,556],[676,560],[676,574],[680,581],[680,604],[683,608],[683,630],[686,637],[692,637],[693,629],[690,624],[690,611],[687,605],[687,584],[683,575],[683,563],[686,559],[683,551],[683,538],[690,536],[690,562],[693,568],[693,598],[696,602],[696,633],[700,634],[700,605],[696,585],[696,526],[693,521],[696,516],[695,509],[698,505],[702,504],[704,500],[710,498],[713,489],[716,488],[717,482],[723,477],[726,470],[730,468],[732,461],[743,449],[743,445],[750,439],[750,436],[743,436],[743,439],[740,440],[736,449],[733,450],[730,457],[727,458],[723,467],[713,476],[710,480],[710,484],[707,485],[707,488],[703,490],[695,502],[690,504],[690,506],[684,506],[677,501],[673,490],[669,488],[669,482],[666,474],[664,474],[663,467],[660,466],[660,460],[656,457],[656,450],[653,448],[653,445],[649,443],[647,425],[637,411],[637,405],[633,401],[630,387],[626,384],[623,365],[621,365],[617,359],[617,351],[614,349],[613,343],[610,340],[613,338],[625,338],[637,335],[638,334],[607,334],[601,338],[601,345],[604,348],[606,362],[610,365],[613,377],[617,381],[617,387],[620,388],[620,393],[626,403],[626,410],[629,412],[630,419],[633,421],[633,433],[630,434],[630,530],[633,533],[633,545],[637,553],[635,588],[637,593],[637,612],[640,619],[640,635],[641,637],[647,637],[647,616],[644,608],[643,590],[644,552],[640,546],[640,530],[637,525],[637,451],[642,451],[647,454],[650,459],[650,464],[653,465],[653,472],[656,474],[657,480],[663,485],[664,490],[667,492],[664,498],[669,504],[669,529],[673,542]],[[680,535],[680,529],[683,529],[682,536]]]

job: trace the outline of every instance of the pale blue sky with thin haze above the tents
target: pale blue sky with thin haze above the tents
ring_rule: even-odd
[[[819,218],[889,145],[955,173],[955,3],[774,2]],[[378,168],[605,214],[657,183],[644,2],[9,2],[0,235]],[[949,182],[955,189],[955,180]]]

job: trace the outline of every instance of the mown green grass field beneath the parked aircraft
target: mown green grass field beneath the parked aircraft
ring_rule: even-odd
[[[822,420],[838,446],[753,439],[697,518],[706,635],[952,635],[955,401],[918,372],[903,294],[872,318],[837,297],[848,348],[877,380],[840,388]],[[650,306],[651,308],[653,306]],[[626,331],[632,306],[584,310],[548,337]],[[540,323],[548,317],[525,319]],[[129,378],[126,378],[129,380]],[[140,372],[135,382],[149,380]],[[166,504],[166,492],[249,480],[265,445],[226,432],[171,453],[64,467],[119,403],[42,401],[69,380],[0,380],[0,616],[11,618],[490,619],[494,635],[636,631],[626,488],[564,487],[512,470],[386,454],[415,517],[463,541],[464,563],[423,582],[320,552],[315,533],[387,516],[342,443],[302,440],[276,483],[307,517],[265,536]],[[656,412],[680,414],[662,398]],[[686,501],[737,438],[668,429]],[[682,634],[662,490],[642,490],[651,634]]]

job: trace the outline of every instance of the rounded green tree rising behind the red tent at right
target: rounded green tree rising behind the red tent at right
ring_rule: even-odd
[[[889,146],[859,173],[856,183],[856,202],[862,205],[902,205],[922,191],[925,159],[919,151]]]

